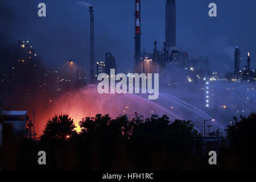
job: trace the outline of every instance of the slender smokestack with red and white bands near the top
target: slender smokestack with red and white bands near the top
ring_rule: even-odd
[[[141,1],[135,0],[135,67],[141,62]]]

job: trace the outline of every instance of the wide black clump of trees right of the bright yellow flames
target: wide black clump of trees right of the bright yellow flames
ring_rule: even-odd
[[[146,122],[105,115],[93,120],[83,118],[79,124],[80,141],[85,141],[87,151],[97,154],[97,165],[102,169],[112,163],[119,165],[119,160],[126,161],[123,165],[131,162],[138,169],[180,169],[196,160],[201,147],[191,121],[171,122],[166,115],[147,118]]]

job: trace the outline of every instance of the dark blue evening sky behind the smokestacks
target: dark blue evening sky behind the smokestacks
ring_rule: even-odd
[[[1,0],[5,7],[2,31],[13,44],[30,40],[43,61],[57,68],[69,59],[89,68],[89,12],[76,0]],[[37,15],[38,3],[47,6],[47,17]],[[134,66],[134,0],[88,0],[94,6],[96,60],[112,52],[118,72]],[[158,49],[164,41],[165,0],[141,0],[142,51]],[[210,2],[217,18],[208,16]],[[176,0],[177,46],[189,56],[208,56],[213,72],[233,71],[233,46],[241,48],[242,65],[247,51],[256,68],[256,1]],[[1,18],[2,19],[2,18]],[[2,34],[2,33],[1,33]]]

